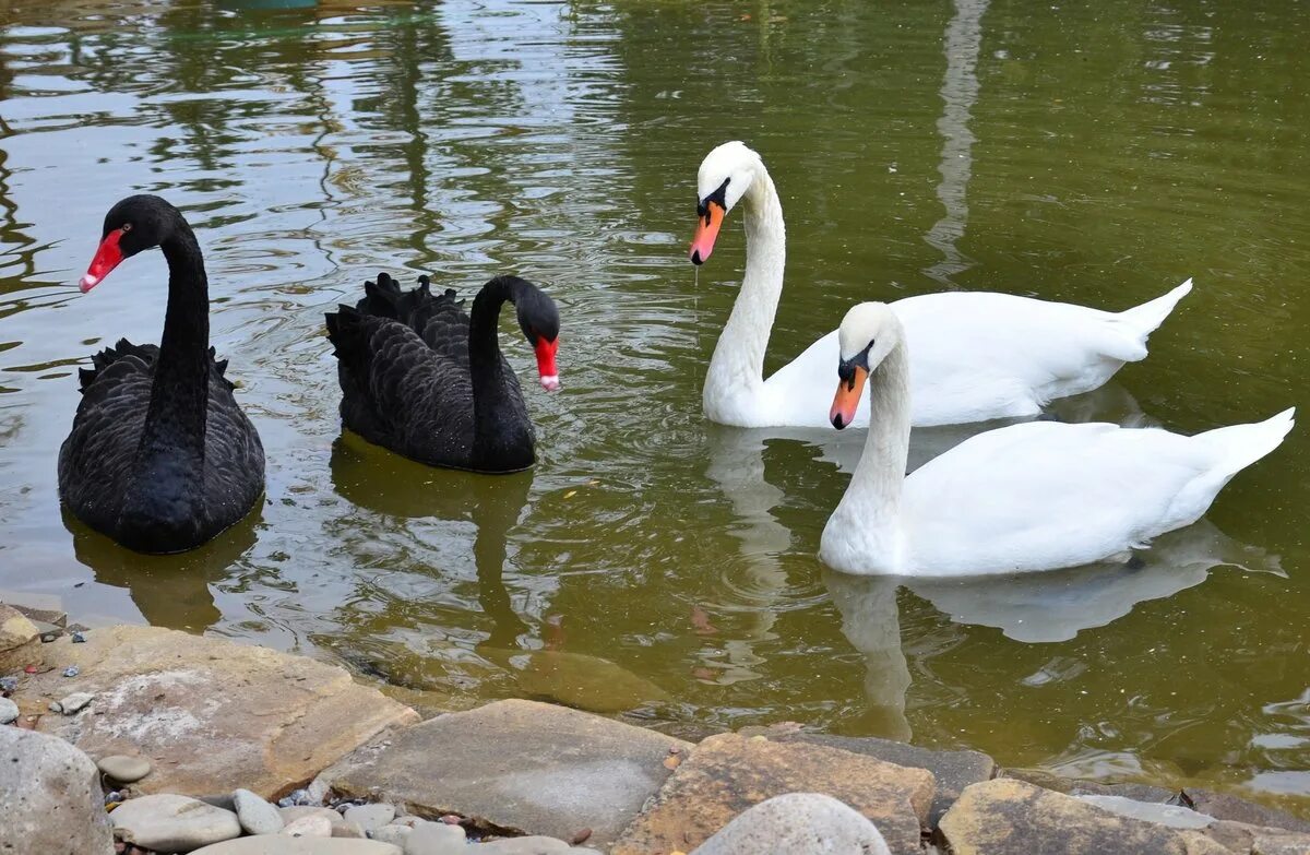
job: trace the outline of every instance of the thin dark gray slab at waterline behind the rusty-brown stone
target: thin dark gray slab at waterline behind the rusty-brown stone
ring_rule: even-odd
[[[768,728],[743,728],[741,736],[762,736],[774,742],[807,742],[810,745],[827,745],[854,754],[875,757],[887,763],[908,766],[910,768],[926,768],[933,772],[937,780],[937,796],[933,806],[927,812],[929,827],[935,827],[938,820],[946,809],[960,797],[964,788],[980,780],[990,780],[996,776],[998,767],[996,761],[981,751],[938,751],[933,749],[896,742],[895,740],[880,740],[872,736],[832,736],[828,733],[810,733],[800,729],[800,725],[776,724]]]

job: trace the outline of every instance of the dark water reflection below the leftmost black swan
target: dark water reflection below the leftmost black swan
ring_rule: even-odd
[[[101,585],[126,587],[141,618],[152,627],[204,632],[219,622],[212,585],[227,581],[255,543],[262,504],[208,543],[178,555],[143,555],[93,531],[64,507],[64,527],[73,536],[73,556]]]

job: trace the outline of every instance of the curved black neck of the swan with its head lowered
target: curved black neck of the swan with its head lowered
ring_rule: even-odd
[[[517,303],[532,286],[496,277],[473,298],[469,315],[469,375],[473,383],[473,462],[489,468],[532,466],[532,425],[517,407],[517,387],[504,376],[496,324],[504,303]]]

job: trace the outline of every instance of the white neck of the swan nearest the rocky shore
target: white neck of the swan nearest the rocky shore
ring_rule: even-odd
[[[901,488],[909,459],[909,357],[897,344],[869,378],[865,451],[837,510],[828,518],[820,556],[848,573],[903,573]]]

